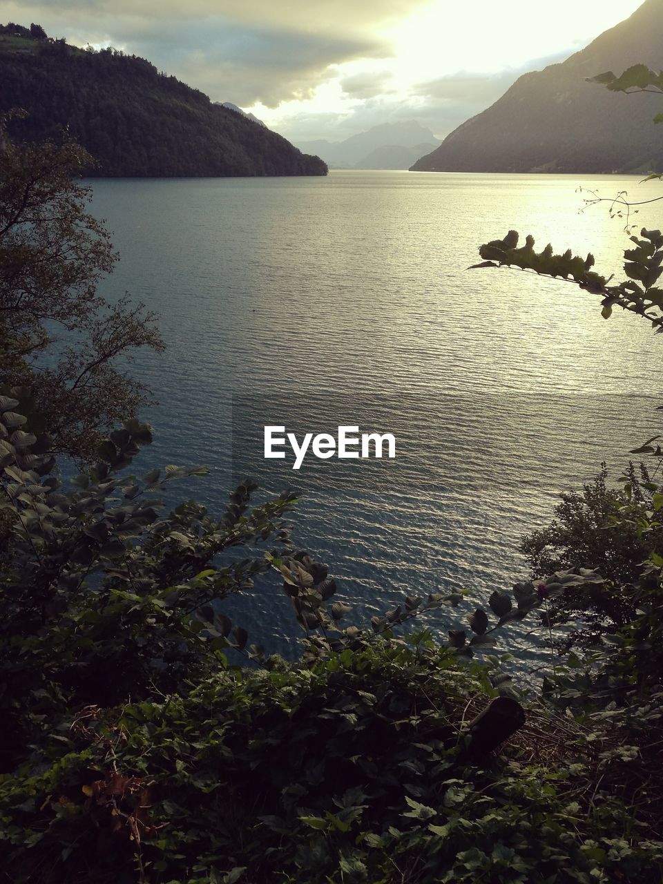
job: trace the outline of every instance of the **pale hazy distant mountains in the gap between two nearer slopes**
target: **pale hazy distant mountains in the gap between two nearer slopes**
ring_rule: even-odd
[[[407,169],[423,150],[439,143],[430,129],[408,120],[373,126],[345,141],[301,141],[298,146],[337,169]]]

